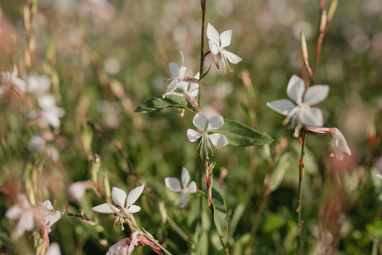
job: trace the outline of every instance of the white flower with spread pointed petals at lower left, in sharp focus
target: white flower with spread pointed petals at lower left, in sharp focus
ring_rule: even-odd
[[[100,204],[99,206],[94,206],[92,210],[99,213],[116,213],[116,212],[124,211],[127,214],[127,213],[139,212],[141,208],[139,206],[134,205],[133,203],[137,201],[139,196],[142,194],[143,187],[144,185],[139,186],[129,192],[129,195],[127,196],[126,205],[125,205],[126,192],[121,190],[120,188],[113,187],[112,199],[114,203],[116,204],[116,206],[118,206],[118,208],[116,206],[109,205],[108,203],[104,203],[104,204]],[[117,223],[117,225],[120,225],[123,230],[124,229],[123,222],[125,222],[125,219],[117,215],[115,217],[114,226],[115,226],[115,223]]]

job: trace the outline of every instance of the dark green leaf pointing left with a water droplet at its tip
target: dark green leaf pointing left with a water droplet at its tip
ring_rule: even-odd
[[[135,111],[142,113],[157,113],[165,108],[183,108],[195,113],[195,109],[183,96],[178,95],[169,95],[165,98],[162,96],[155,96],[154,98],[149,99],[145,103],[139,105]]]

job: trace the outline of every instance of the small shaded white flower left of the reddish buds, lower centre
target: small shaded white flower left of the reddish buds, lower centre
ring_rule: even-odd
[[[182,173],[180,178],[181,178],[181,181],[175,177],[166,177],[165,184],[169,190],[174,192],[180,192],[178,195],[180,196],[178,207],[183,208],[190,200],[188,195],[196,193],[196,183],[195,181],[191,181],[191,183],[188,185],[191,178],[185,167],[182,168]],[[182,182],[182,185],[180,185],[180,182]]]

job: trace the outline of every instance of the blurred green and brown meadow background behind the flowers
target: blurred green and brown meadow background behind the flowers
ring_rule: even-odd
[[[219,33],[233,30],[231,45],[225,49],[243,60],[231,64],[233,72],[225,74],[212,64],[204,78],[201,111],[234,119],[275,139],[261,147],[228,145],[214,149],[210,157],[217,162],[214,186],[226,201],[229,230],[225,242],[230,254],[244,250],[248,254],[296,253],[301,147],[293,131],[282,125],[284,117],[265,103],[287,98],[286,85],[293,74],[308,84],[299,34],[303,31],[306,36],[312,67],[318,2],[207,1],[206,23]],[[329,5],[330,1],[325,8]],[[113,216],[98,217],[91,211],[103,202],[91,189],[79,197],[68,192],[73,183],[92,178],[91,162],[97,154],[100,186],[104,172],[111,187],[126,192],[145,184],[136,203],[142,209],[134,216],[172,254],[223,254],[207,203],[200,209],[200,198],[194,195],[188,206],[177,209],[177,201],[172,202],[176,194],[164,185],[165,177],[180,178],[181,168],[186,167],[199,186],[199,151],[186,137],[187,129],[193,128],[194,114],[186,111],[180,117],[173,109],[134,112],[141,103],[163,94],[168,83],[162,82],[171,77],[168,63],[181,63],[179,51],[185,55],[186,75],[194,77],[199,71],[200,1],[39,0],[30,32],[24,28],[24,6],[27,1],[0,0],[0,70],[12,72],[15,63],[21,78],[47,75],[49,91],[65,115],[57,128],[41,127],[31,123],[28,113],[39,108],[37,96],[31,95],[29,103],[13,93],[0,99],[1,213],[15,203],[15,194],[28,190],[26,166],[41,164],[37,200],[56,199],[58,209],[68,201],[70,212],[82,210],[104,227],[98,232],[77,217],[63,216],[52,227],[50,242],[58,242],[63,254],[105,254],[108,247],[129,236],[129,229],[114,228]],[[26,52],[30,52],[31,64]],[[204,72],[211,63],[207,56]],[[376,177],[382,170],[381,70],[382,2],[339,1],[324,37],[314,83],[330,86],[328,98],[319,107],[325,127],[337,127],[344,134],[351,156],[345,155],[343,161],[329,157],[330,146],[325,147],[332,137],[308,134],[302,198],[304,253],[382,251],[382,183]],[[86,120],[119,142],[128,160]],[[46,146],[55,152],[34,153],[30,139],[38,134],[45,134]],[[285,137],[286,147],[276,157],[280,137]],[[251,243],[272,158],[276,180],[272,180],[272,192]],[[0,224],[2,254],[33,250],[34,241],[28,239],[32,232],[11,241],[14,223],[2,217]],[[153,253],[147,247],[134,252]]]

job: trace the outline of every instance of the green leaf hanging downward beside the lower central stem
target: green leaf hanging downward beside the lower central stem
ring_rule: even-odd
[[[228,222],[225,220],[227,209],[225,207],[225,200],[215,188],[212,188],[212,209],[214,210],[214,222],[217,233],[221,237],[227,237]]]

